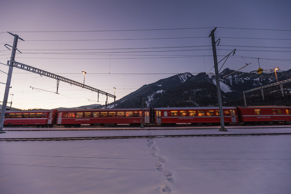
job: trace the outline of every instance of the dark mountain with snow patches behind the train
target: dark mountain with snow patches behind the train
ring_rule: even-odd
[[[276,82],[273,70],[266,73],[244,73],[229,68],[223,70],[219,77],[224,106],[243,106],[243,91]],[[277,71],[278,81],[291,79],[291,69]],[[291,82],[284,83],[284,97],[279,85],[265,88],[264,99],[261,91],[246,94],[247,105],[291,105]],[[217,106],[216,80],[214,74],[189,72],[178,74],[157,82],[147,84],[130,93],[126,97],[116,100],[116,108],[140,108],[141,97],[145,107],[197,107]],[[107,108],[113,108],[113,103]]]

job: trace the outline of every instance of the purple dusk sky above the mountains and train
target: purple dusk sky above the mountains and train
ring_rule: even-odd
[[[289,70],[290,7],[289,0],[2,1],[0,101],[8,72],[3,64],[11,56],[4,45],[14,40],[7,32],[25,40],[18,42],[16,62],[115,92],[117,100],[178,73],[214,73],[209,35],[215,27],[218,61],[236,49],[223,66],[219,63],[221,71],[246,64],[241,71]],[[97,93],[65,82],[55,94],[56,85],[14,68],[8,101],[20,109],[105,104],[104,95],[98,99]]]

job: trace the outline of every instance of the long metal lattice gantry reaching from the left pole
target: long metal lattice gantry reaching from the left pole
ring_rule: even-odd
[[[115,101],[115,98],[116,98],[115,95],[109,94],[109,93],[104,92],[102,90],[98,90],[98,89],[96,89],[94,87],[85,85],[85,84],[80,83],[78,81],[73,81],[73,80],[67,79],[65,77],[50,73],[48,71],[32,67],[30,65],[21,64],[21,63],[18,63],[18,62],[15,61],[13,66],[16,67],[16,68],[19,68],[19,69],[23,69],[23,70],[26,70],[26,71],[30,71],[32,73],[39,74],[41,76],[46,76],[46,77],[49,77],[49,78],[56,79],[57,80],[57,93],[58,93],[59,81],[64,81],[66,83],[70,83],[72,85],[76,85],[76,86],[91,90],[93,92],[97,92],[98,94],[106,95],[106,97],[113,97],[114,101]]]

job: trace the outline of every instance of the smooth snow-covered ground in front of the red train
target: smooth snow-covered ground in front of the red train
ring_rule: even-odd
[[[0,138],[291,132],[6,131]],[[290,194],[291,135],[0,142],[0,194]]]

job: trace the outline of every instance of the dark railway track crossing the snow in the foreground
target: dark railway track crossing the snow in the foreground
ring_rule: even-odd
[[[145,139],[145,138],[177,138],[177,137],[221,137],[221,136],[263,136],[291,135],[291,133],[244,133],[244,134],[193,134],[193,135],[141,135],[141,136],[103,136],[103,137],[39,137],[39,138],[0,138],[0,142],[24,141],[75,141],[75,140],[109,140],[109,139]]]

